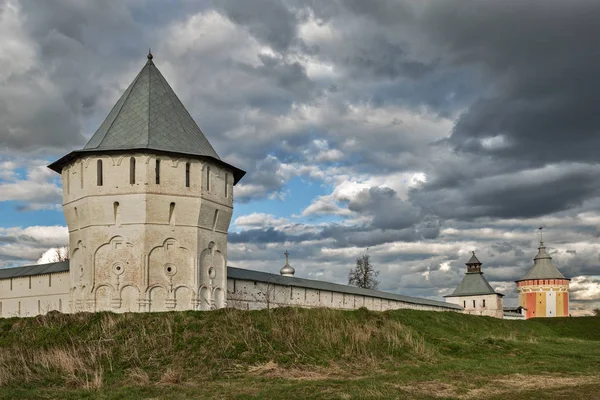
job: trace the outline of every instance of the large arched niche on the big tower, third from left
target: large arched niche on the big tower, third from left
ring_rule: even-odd
[[[148,255],[149,285],[164,285],[172,293],[174,287],[192,282],[193,265],[194,258],[187,248],[176,239],[166,239]]]

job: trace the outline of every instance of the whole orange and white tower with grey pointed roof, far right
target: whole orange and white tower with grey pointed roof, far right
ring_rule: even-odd
[[[520,306],[526,309],[525,318],[568,317],[569,281],[552,264],[540,240],[533,267],[516,281]]]

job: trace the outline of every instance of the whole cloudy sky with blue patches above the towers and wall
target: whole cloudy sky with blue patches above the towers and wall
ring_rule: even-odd
[[[0,266],[67,243],[58,174],[154,61],[236,186],[229,264],[515,303],[539,226],[600,306],[600,2],[0,0]]]

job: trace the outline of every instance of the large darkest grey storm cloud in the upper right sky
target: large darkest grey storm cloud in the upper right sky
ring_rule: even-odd
[[[431,37],[454,63],[480,65],[490,79],[490,90],[461,116],[451,142],[469,152],[532,164],[597,161],[599,15],[596,1],[431,7],[426,18]],[[482,139],[499,135],[506,146],[482,145]]]

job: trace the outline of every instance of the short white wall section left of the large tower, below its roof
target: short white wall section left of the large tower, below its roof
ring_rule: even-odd
[[[33,317],[70,312],[69,273],[0,279],[0,317]]]

